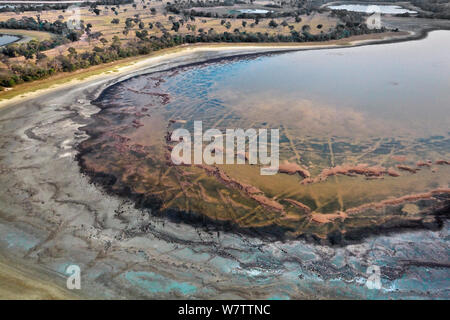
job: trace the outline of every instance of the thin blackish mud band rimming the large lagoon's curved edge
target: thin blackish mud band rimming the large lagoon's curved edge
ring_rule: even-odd
[[[312,50],[312,49],[306,49],[306,50]],[[320,50],[320,49],[318,49]],[[178,69],[181,67],[188,67],[198,64],[203,64],[206,62],[214,62],[218,60],[225,60],[225,59],[234,59],[234,58],[245,58],[247,56],[255,56],[255,55],[264,55],[264,54],[276,54],[280,52],[290,52],[290,51],[297,51],[297,50],[284,50],[284,51],[271,51],[271,52],[261,52],[261,53],[247,53],[247,54],[234,54],[231,56],[223,57],[219,56],[217,58],[210,58],[207,60],[199,60],[196,62],[186,63],[179,66],[169,67],[164,69],[164,71],[170,71],[174,69]],[[142,74],[152,74],[153,72],[143,72]],[[115,86],[120,84],[121,82],[127,81],[129,78],[116,81],[114,84],[108,85],[108,88],[111,86]],[[106,90],[102,90],[101,93],[96,97],[97,99],[101,99],[102,96],[105,94]],[[92,102],[95,105],[95,101]],[[84,130],[81,128],[81,130]],[[88,136],[90,136],[89,132],[87,132]],[[213,219],[210,219],[208,217],[205,217],[203,215],[197,214],[195,212],[186,212],[186,211],[179,211],[175,209],[170,210],[160,210],[161,204],[159,199],[153,198],[153,197],[147,197],[143,194],[137,194],[132,192],[129,189],[123,189],[123,190],[112,190],[110,188],[111,181],[115,179],[114,176],[109,176],[107,173],[97,173],[97,172],[91,172],[88,167],[86,167],[81,160],[81,157],[84,155],[85,150],[80,150],[78,148],[78,154],[77,154],[77,161],[81,168],[81,172],[86,174],[91,182],[94,182],[100,186],[102,186],[102,189],[107,191],[111,195],[124,197],[127,199],[131,199],[135,204],[137,208],[143,208],[143,209],[151,209],[152,214],[155,214],[157,216],[163,215],[167,217],[169,220],[173,222],[186,222],[188,224],[193,224],[195,226],[203,225],[207,228],[212,227],[216,228],[217,230],[221,231],[229,231],[232,230],[237,233],[243,233],[250,236],[262,236],[264,238],[269,237],[273,238],[275,240],[285,240],[286,238],[292,239],[292,237],[286,237],[286,233],[289,231],[293,231],[289,228],[281,227],[278,225],[267,225],[264,227],[250,227],[250,228],[243,228],[232,221],[216,221]],[[115,181],[115,180],[114,180]],[[429,199],[431,199],[430,197]],[[363,239],[371,236],[371,235],[377,235],[377,234],[389,234],[393,232],[402,232],[405,230],[412,230],[412,229],[429,229],[429,230],[439,230],[442,227],[442,221],[441,218],[443,216],[442,212],[445,212],[445,210],[448,210],[449,204],[448,201],[444,204],[441,204],[442,206],[438,206],[435,208],[435,211],[427,211],[427,214],[424,215],[423,219],[419,219],[416,221],[396,221],[395,219],[386,221],[383,225],[379,225],[373,228],[353,228],[351,230],[348,230],[347,234],[330,234],[327,238],[318,238],[314,234],[300,234],[297,236],[297,238],[305,239],[305,240],[311,240],[314,243],[322,244],[322,245],[338,245],[338,246],[344,246],[352,243],[357,243],[362,241]],[[351,209],[350,209],[351,210]],[[179,216],[181,215],[184,217],[181,219]],[[430,221],[427,218],[435,217],[434,221]],[[445,215],[444,215],[445,218]]]

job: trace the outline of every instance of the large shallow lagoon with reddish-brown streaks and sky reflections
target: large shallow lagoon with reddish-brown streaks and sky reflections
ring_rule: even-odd
[[[139,197],[157,195],[162,208],[287,228],[294,238],[371,228],[365,205],[378,206],[379,223],[399,227],[399,215],[417,223],[437,208],[419,198],[439,202],[430,192],[449,188],[449,40],[449,32],[433,32],[422,41],[224,59],[129,79],[96,102],[102,111],[87,129],[95,138],[82,144],[82,166],[112,174],[115,193],[131,187]],[[165,137],[177,126],[192,132],[197,120],[221,132],[277,128],[281,163],[308,172],[172,167]]]

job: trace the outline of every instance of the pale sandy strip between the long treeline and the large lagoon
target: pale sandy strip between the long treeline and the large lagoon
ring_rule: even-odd
[[[370,36],[367,39],[367,36]],[[380,36],[383,36],[380,39]],[[364,39],[366,38],[366,39]],[[40,97],[42,95],[52,93],[59,89],[71,88],[76,85],[80,85],[87,82],[99,81],[102,82],[104,80],[111,80],[112,78],[117,78],[119,76],[123,76],[126,74],[131,74],[133,72],[139,71],[140,69],[145,69],[156,65],[158,63],[170,63],[172,60],[182,57],[184,55],[189,55],[195,52],[215,52],[220,53],[224,52],[223,56],[233,56],[233,55],[246,55],[246,54],[259,54],[259,53],[274,53],[274,52],[283,52],[283,51],[301,51],[301,50],[322,50],[322,49],[339,49],[339,48],[351,48],[357,46],[364,45],[373,45],[373,44],[386,44],[392,42],[400,42],[400,41],[408,41],[415,40],[421,38],[416,32],[399,32],[398,35],[395,33],[386,33],[386,34],[374,34],[374,35],[363,35],[363,36],[355,36],[347,39],[340,39],[337,41],[330,41],[325,44],[320,42],[317,43],[301,43],[292,45],[289,43],[279,43],[279,44],[253,44],[253,43],[239,43],[236,45],[233,44],[195,44],[195,45],[186,45],[179,46],[176,48],[171,48],[168,50],[161,50],[154,53],[151,56],[145,57],[136,57],[134,60],[130,60],[129,62],[125,62],[123,60],[118,60],[109,66],[99,67],[103,70],[99,71],[98,74],[94,74],[91,76],[83,77],[85,73],[92,71],[92,68],[87,70],[82,70],[79,73],[68,73],[64,74],[64,78],[74,77],[75,79],[71,79],[67,82],[60,84],[49,84],[49,87],[44,89],[34,89],[33,87],[30,90],[12,97],[12,98],[4,98],[0,93],[0,109],[20,104],[24,101],[28,101],[33,98]],[[232,52],[229,52],[232,51]],[[125,64],[121,66],[121,64]],[[112,73],[111,73],[112,72]],[[61,75],[61,74],[59,74]],[[82,78],[82,79],[80,79]],[[39,80],[30,84],[35,84],[38,86],[40,83],[44,81],[52,81],[54,77],[44,80]],[[13,90],[20,90],[21,85],[14,87],[13,89],[9,89],[5,93],[13,92]]]

